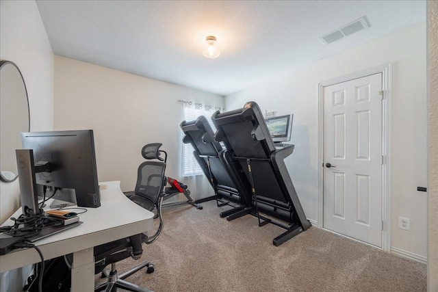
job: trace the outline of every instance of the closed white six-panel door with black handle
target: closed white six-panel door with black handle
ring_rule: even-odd
[[[324,87],[324,228],[378,247],[381,90],[381,73]]]

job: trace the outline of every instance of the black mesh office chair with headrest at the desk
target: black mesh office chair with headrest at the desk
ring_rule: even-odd
[[[122,274],[118,274],[115,263],[125,258],[132,257],[139,259],[142,256],[142,243],[150,244],[155,241],[162,232],[162,202],[166,194],[167,179],[164,176],[166,163],[160,157],[161,151],[159,147],[161,143],[148,144],[142,148],[142,156],[146,159],[138,167],[137,183],[135,191],[125,192],[125,195],[139,204],[144,209],[155,211],[154,218],[159,218],[159,227],[154,235],[148,237],[144,233],[133,235],[125,239],[105,243],[94,248],[94,274],[103,273],[107,278],[107,282],[99,284],[94,291],[114,292],[117,288],[126,289],[128,291],[151,291],[144,287],[125,281],[125,278],[136,273],[140,269],[147,267],[147,273],[152,273],[153,265],[146,261],[141,265],[129,269]],[[157,159],[158,161],[152,161]],[[111,264],[111,268],[107,266]]]

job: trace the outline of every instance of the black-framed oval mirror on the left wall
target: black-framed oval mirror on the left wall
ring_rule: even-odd
[[[21,132],[30,131],[29,100],[23,75],[10,61],[0,61],[0,180],[17,178],[15,149]]]

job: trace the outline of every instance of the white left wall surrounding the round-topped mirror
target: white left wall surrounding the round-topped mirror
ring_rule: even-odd
[[[14,62],[21,70],[29,96],[31,131],[51,131],[53,51],[35,1],[0,1],[0,59]],[[18,180],[0,182],[0,222],[18,209],[18,197]]]

